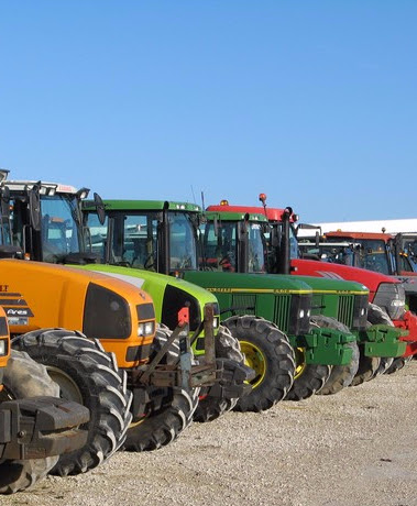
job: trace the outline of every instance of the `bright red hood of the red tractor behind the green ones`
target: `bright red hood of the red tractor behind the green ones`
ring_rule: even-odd
[[[350,267],[348,265],[333,264],[330,262],[320,262],[317,260],[292,260],[292,267],[296,271],[292,274],[305,276],[329,277],[333,279],[347,279],[350,282],[362,283],[371,292],[371,298],[377,290],[381,283],[400,283],[392,276],[367,271],[366,268]]]

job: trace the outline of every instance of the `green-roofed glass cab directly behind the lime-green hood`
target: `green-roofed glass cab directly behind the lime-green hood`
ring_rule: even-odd
[[[163,274],[198,268],[199,206],[164,200],[106,201],[100,223],[84,206],[92,252],[100,261]]]

